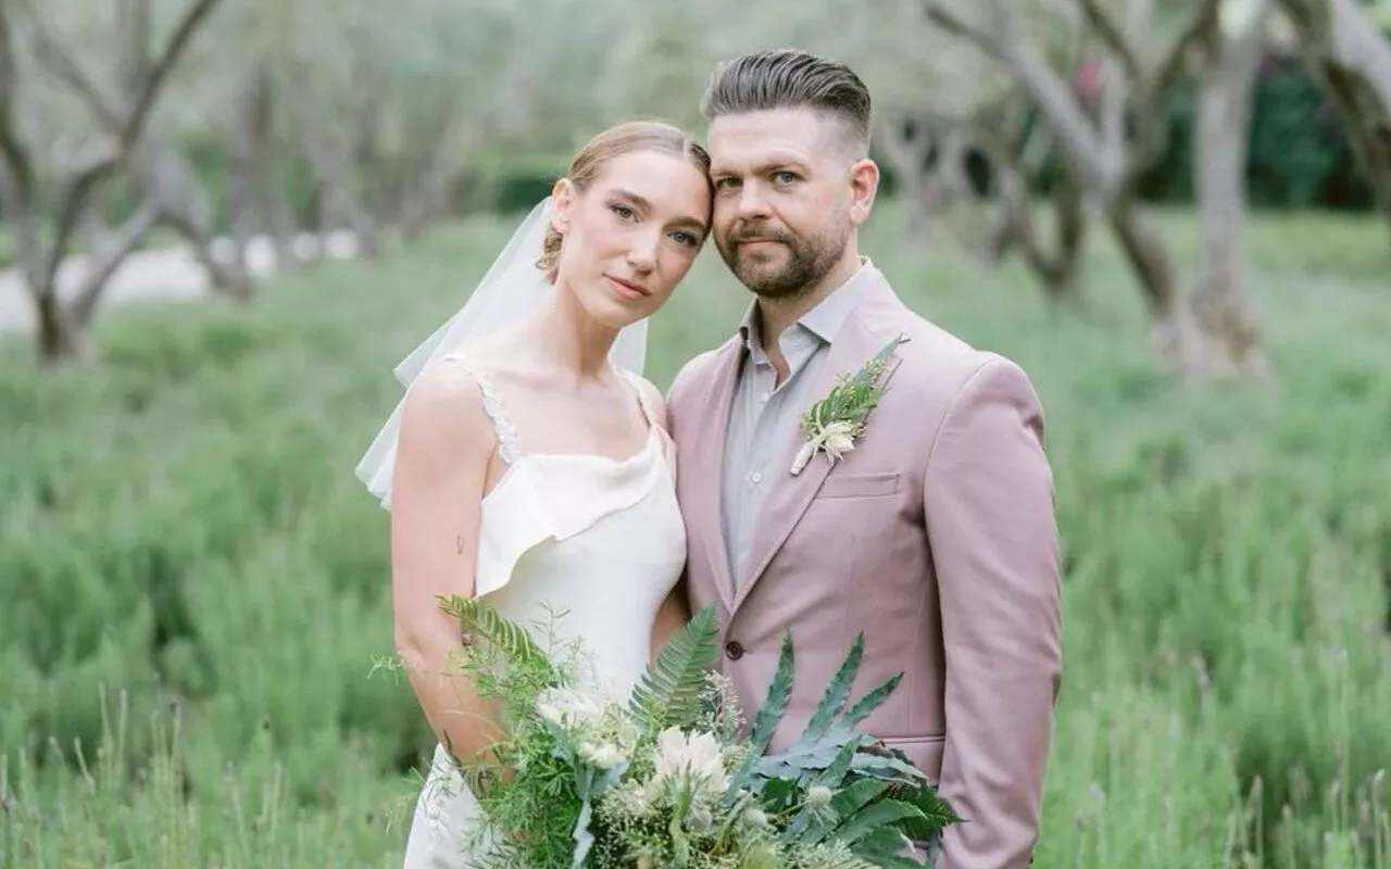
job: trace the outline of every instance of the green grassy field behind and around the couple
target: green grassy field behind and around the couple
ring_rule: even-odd
[[[0,343],[0,865],[399,866],[430,737],[403,684],[369,679],[387,516],[352,469],[391,367],[509,228],[324,266],[245,314],[108,311],[89,371],[40,378]],[[1077,316],[876,216],[899,292],[1022,363],[1047,410],[1066,676],[1036,866],[1391,868],[1384,236],[1259,218],[1278,380],[1185,388],[1153,371],[1103,239]],[[650,375],[744,303],[708,252]]]

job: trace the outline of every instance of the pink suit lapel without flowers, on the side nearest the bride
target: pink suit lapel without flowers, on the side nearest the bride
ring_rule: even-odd
[[[693,450],[694,473],[701,476],[701,484],[691,488],[693,495],[698,495],[696,503],[690,505],[696,521],[705,523],[705,530],[700,535],[704,541],[704,555],[709,560],[709,576],[715,583],[715,591],[727,609],[733,603],[734,583],[729,574],[729,541],[725,539],[725,523],[722,517],[721,492],[725,481],[725,437],[729,428],[729,410],[734,398],[734,378],[739,374],[739,362],[743,346],[739,339],[732,339],[719,349],[715,360],[715,371],[709,378],[709,388],[701,402],[700,419],[696,423],[694,437],[697,448]]]

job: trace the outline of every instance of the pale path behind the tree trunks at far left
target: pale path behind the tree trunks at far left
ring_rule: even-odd
[[[332,259],[352,259],[357,254],[352,234],[331,234],[324,245],[324,253]],[[314,256],[320,247],[319,236],[300,235],[295,245],[302,254]],[[214,242],[213,254],[227,256],[231,242]],[[64,260],[58,268],[58,295],[71,298],[72,288],[86,268],[86,256]],[[248,270],[255,277],[275,271],[275,253],[267,238],[252,239],[248,246]],[[132,253],[107,284],[102,293],[102,304],[124,304],[129,302],[175,302],[198,300],[209,295],[207,274],[198,264],[188,246],[136,250]],[[25,288],[18,268],[0,270],[0,332],[33,331],[33,300]]]

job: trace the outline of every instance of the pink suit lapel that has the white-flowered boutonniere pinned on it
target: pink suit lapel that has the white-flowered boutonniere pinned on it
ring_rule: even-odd
[[[825,364],[817,373],[817,381],[808,393],[807,405],[810,406],[811,403],[821,400],[830,387],[835,385],[837,375],[849,374],[869,362],[869,359],[883,348],[886,341],[887,339],[881,341],[879,336],[869,331],[862,324],[862,320],[853,313],[850,318],[846,320],[840,335],[837,335],[836,341],[830,345],[830,352],[826,355]],[[892,356],[889,362],[885,363],[881,382],[889,382],[889,378],[893,377],[893,373],[899,367],[900,362],[899,356]],[[734,596],[734,601],[729,608],[730,616],[733,616],[739,606],[748,598],[748,592],[758,583],[759,577],[762,577],[764,570],[768,569],[768,563],[773,559],[782,545],[787,542],[787,537],[791,534],[793,528],[797,527],[797,523],[801,521],[807,507],[811,506],[811,501],[821,489],[821,484],[825,482],[826,477],[829,477],[833,470],[830,462],[826,460],[826,456],[818,453],[800,474],[791,474],[793,459],[805,442],[805,434],[801,431],[800,423],[803,410],[805,410],[805,407],[796,409],[798,416],[796,431],[787,444],[783,445],[782,456],[779,459],[780,464],[773,469],[776,484],[772,491],[768,492],[768,496],[759,509],[754,528],[754,538],[750,544],[748,563],[744,570],[744,576],[740,577],[739,594]],[[869,413],[869,420],[874,420],[874,412]],[[723,431],[723,428],[719,431]],[[853,456],[854,453],[850,455]],[[844,462],[850,456],[842,457],[840,462]],[[836,463],[836,467],[839,467],[840,462]]]

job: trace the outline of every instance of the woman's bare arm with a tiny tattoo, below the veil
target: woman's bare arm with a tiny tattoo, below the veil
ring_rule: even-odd
[[[495,435],[477,384],[444,364],[408,392],[391,495],[391,588],[396,653],[440,742],[459,761],[491,759],[492,710],[449,672],[458,622],[440,596],[473,595],[479,513]]]

